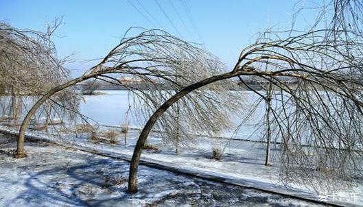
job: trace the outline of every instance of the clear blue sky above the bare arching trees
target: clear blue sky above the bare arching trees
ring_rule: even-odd
[[[290,22],[295,3],[294,0],[0,0],[0,21],[41,30],[45,23],[62,16],[63,24],[54,42],[60,58],[75,53],[78,61],[67,64],[73,76],[93,65],[82,60],[105,56],[132,26],[162,27],[185,40],[204,43],[208,51],[231,67],[239,51],[253,41],[254,34],[277,23],[283,27]]]

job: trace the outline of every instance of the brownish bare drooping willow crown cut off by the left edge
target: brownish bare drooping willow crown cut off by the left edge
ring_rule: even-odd
[[[5,93],[1,97],[1,108],[3,112],[10,112],[8,117],[14,121],[14,127],[32,101],[36,101],[49,88],[69,79],[69,71],[62,67],[67,59],[56,58],[56,49],[51,41],[60,23],[56,19],[48,25],[47,32],[17,29],[0,23],[0,85]],[[73,90],[65,90],[49,99],[43,108],[46,125],[56,114],[68,119],[74,117],[79,100]]]

